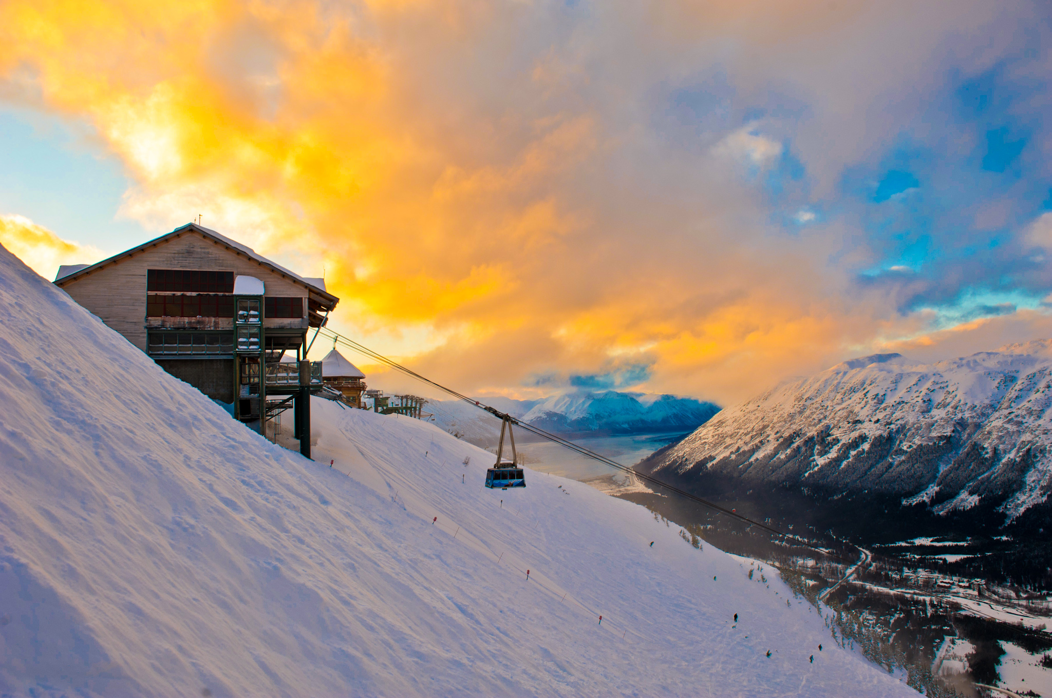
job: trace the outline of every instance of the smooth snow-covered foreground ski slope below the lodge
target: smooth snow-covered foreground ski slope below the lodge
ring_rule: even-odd
[[[0,313],[2,695],[915,695],[640,507],[321,401],[307,460],[2,248]]]

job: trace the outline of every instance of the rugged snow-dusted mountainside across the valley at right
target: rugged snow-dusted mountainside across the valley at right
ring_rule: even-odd
[[[1050,344],[931,365],[844,362],[722,411],[645,468],[890,493],[936,513],[982,502],[1011,519],[1052,488]]]

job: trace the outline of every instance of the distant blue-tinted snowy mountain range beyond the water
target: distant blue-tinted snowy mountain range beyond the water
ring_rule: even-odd
[[[538,401],[486,397],[484,402],[541,429],[564,434],[687,431],[720,411],[712,403],[691,397],[613,390]],[[500,435],[501,423],[495,417],[462,401],[430,403],[427,411],[434,414],[439,427],[472,444],[489,446]]]

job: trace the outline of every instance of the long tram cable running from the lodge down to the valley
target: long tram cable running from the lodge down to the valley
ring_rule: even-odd
[[[743,521],[745,524],[749,524],[750,526],[753,526],[753,527],[756,527],[756,528],[762,529],[764,531],[767,531],[768,533],[771,533],[771,534],[773,534],[776,537],[781,537],[781,538],[783,538],[785,540],[791,540],[791,541],[793,541],[793,542],[795,542],[795,543],[797,543],[797,545],[800,545],[800,546],[802,546],[804,548],[809,548],[810,550],[813,550],[815,552],[822,553],[823,555],[827,555],[829,557],[833,557],[835,559],[838,559],[838,560],[842,560],[842,561],[846,561],[848,563],[853,563],[854,562],[853,559],[849,560],[849,559],[847,559],[845,557],[842,557],[841,555],[837,555],[836,553],[830,552],[829,550],[827,550],[825,548],[822,548],[820,546],[816,546],[816,545],[814,545],[814,543],[812,543],[812,542],[810,542],[810,541],[808,541],[808,540],[806,540],[804,538],[801,538],[800,536],[793,535],[791,533],[785,533],[783,531],[778,531],[777,529],[775,529],[775,528],[773,528],[771,526],[768,526],[768,525],[763,524],[761,521],[756,521],[754,519],[751,519],[748,516],[745,516],[744,514],[739,514],[733,509],[727,509],[726,507],[722,507],[721,505],[717,505],[714,501],[709,501],[708,499],[705,499],[704,497],[700,497],[696,494],[688,492],[687,490],[684,490],[684,489],[679,488],[679,487],[676,487],[674,485],[670,485],[670,484],[665,483],[665,481],[663,481],[661,479],[658,479],[656,477],[653,477],[652,475],[647,475],[646,473],[641,473],[641,472],[639,472],[636,470],[633,470],[629,466],[622,465],[622,464],[618,463],[616,460],[613,460],[612,458],[608,458],[605,455],[602,455],[600,453],[595,453],[594,451],[586,449],[585,447],[581,446],[580,444],[574,444],[573,442],[571,442],[571,440],[569,440],[567,438],[563,438],[562,436],[559,436],[558,434],[553,434],[553,433],[551,433],[549,431],[545,431],[544,429],[541,429],[539,427],[534,427],[531,424],[528,424],[528,423],[525,423],[525,422],[520,422],[519,419],[517,419],[515,417],[511,416],[510,414],[507,414],[505,412],[501,412],[500,410],[498,410],[494,407],[490,407],[489,405],[484,405],[484,404],[482,404],[481,402],[479,402],[477,399],[468,397],[467,395],[464,395],[463,393],[457,392],[452,388],[447,388],[446,386],[444,386],[444,385],[442,385],[440,383],[436,383],[434,381],[431,381],[430,378],[428,378],[426,376],[423,376],[420,373],[417,373],[412,369],[410,369],[408,367],[405,367],[405,366],[402,366],[401,364],[394,362],[393,360],[390,360],[390,358],[384,356],[383,354],[377,353],[376,351],[372,351],[368,347],[366,347],[366,346],[364,346],[362,344],[359,344],[358,342],[355,342],[351,338],[343,336],[342,334],[340,334],[339,332],[337,332],[335,330],[330,330],[328,328],[319,328],[318,332],[323,333],[323,336],[325,336],[327,340],[331,340],[333,342],[333,344],[342,344],[343,346],[347,347],[348,349],[352,349],[353,351],[356,351],[356,352],[358,352],[360,354],[363,354],[364,356],[367,356],[369,358],[372,358],[375,361],[380,362],[384,366],[387,366],[389,368],[392,368],[392,369],[394,369],[397,371],[400,371],[400,372],[404,373],[405,375],[408,375],[408,376],[413,377],[413,378],[416,378],[418,381],[426,383],[427,385],[432,386],[433,388],[437,388],[437,389],[439,389],[439,390],[441,390],[441,391],[443,391],[443,392],[445,392],[445,393],[447,393],[449,395],[452,395],[457,399],[461,399],[461,401],[463,401],[463,402],[465,402],[465,403],[467,403],[469,405],[473,405],[474,407],[478,407],[481,410],[485,410],[486,412],[489,412],[490,414],[492,414],[493,416],[495,416],[498,419],[510,422],[512,425],[519,427],[520,429],[525,429],[526,431],[531,432],[533,434],[537,434],[538,436],[541,436],[543,438],[546,438],[549,442],[558,444],[558,445],[560,445],[560,446],[562,446],[564,448],[570,449],[571,451],[575,451],[576,453],[580,453],[581,455],[584,455],[584,456],[587,456],[589,458],[592,458],[593,460],[598,460],[598,461],[602,463],[605,466],[608,466],[608,467],[613,468],[615,470],[620,470],[622,472],[628,473],[628,474],[632,475],[633,477],[636,477],[639,479],[645,480],[645,481],[647,481],[647,483],[649,483],[651,485],[655,485],[658,487],[661,487],[661,488],[663,488],[665,490],[668,490],[669,492],[673,492],[673,493],[675,493],[675,494],[677,494],[677,495],[680,495],[682,497],[690,499],[691,501],[695,501],[695,502],[697,502],[697,504],[700,504],[700,505],[702,505],[704,507],[707,507],[707,508],[709,508],[709,509],[711,509],[711,510],[713,510],[713,511],[715,511],[717,513],[724,514],[724,515],[729,516],[731,518],[735,518],[735,519],[737,519],[740,521]],[[317,333],[316,333],[316,336],[317,336]]]

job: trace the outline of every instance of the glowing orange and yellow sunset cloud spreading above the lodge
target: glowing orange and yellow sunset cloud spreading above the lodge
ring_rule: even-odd
[[[90,122],[121,214],[324,269],[335,327],[462,390],[638,364],[726,402],[916,328],[849,295],[844,230],[771,231],[736,172],[778,140],[655,137],[651,64],[721,27],[806,52],[849,5],[601,3],[588,45],[531,3],[7,0],[0,95]]]

